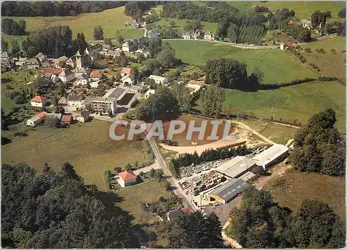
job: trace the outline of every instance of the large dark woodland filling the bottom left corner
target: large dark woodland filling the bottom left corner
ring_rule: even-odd
[[[59,172],[44,165],[42,174],[24,163],[1,170],[3,247],[139,247],[128,213],[103,203],[105,194],[85,185],[71,164]]]

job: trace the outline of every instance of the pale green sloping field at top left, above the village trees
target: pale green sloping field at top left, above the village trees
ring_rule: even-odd
[[[24,19],[26,21],[26,31],[29,33],[50,26],[67,25],[71,28],[74,38],[77,33],[83,33],[86,40],[94,40],[94,26],[100,25],[103,27],[104,38],[115,38],[116,32],[124,29],[124,23],[133,22],[130,17],[124,14],[124,7],[85,13],[77,17],[12,17],[12,19]],[[126,37],[125,34],[123,34],[124,37]],[[11,40],[18,37],[6,35],[4,38]]]

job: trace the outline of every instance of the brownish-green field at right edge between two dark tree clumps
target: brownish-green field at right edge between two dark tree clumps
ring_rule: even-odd
[[[304,199],[314,199],[328,203],[328,205],[341,217],[346,218],[346,180],[316,173],[286,173],[275,178],[265,185],[280,206],[285,206],[297,211]],[[310,180],[310,181],[308,181]],[[280,185],[276,185],[281,183]]]

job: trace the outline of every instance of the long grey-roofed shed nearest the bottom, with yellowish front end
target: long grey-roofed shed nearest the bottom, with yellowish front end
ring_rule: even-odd
[[[248,187],[248,183],[242,181],[241,179],[233,178],[232,180],[212,190],[210,194],[208,194],[208,199],[209,201],[221,201],[223,203],[228,203]]]

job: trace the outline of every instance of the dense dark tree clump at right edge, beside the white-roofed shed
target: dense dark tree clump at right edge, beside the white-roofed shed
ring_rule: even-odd
[[[290,155],[294,168],[301,172],[319,172],[345,176],[346,147],[344,137],[334,127],[336,115],[328,109],[313,115],[294,138]]]

